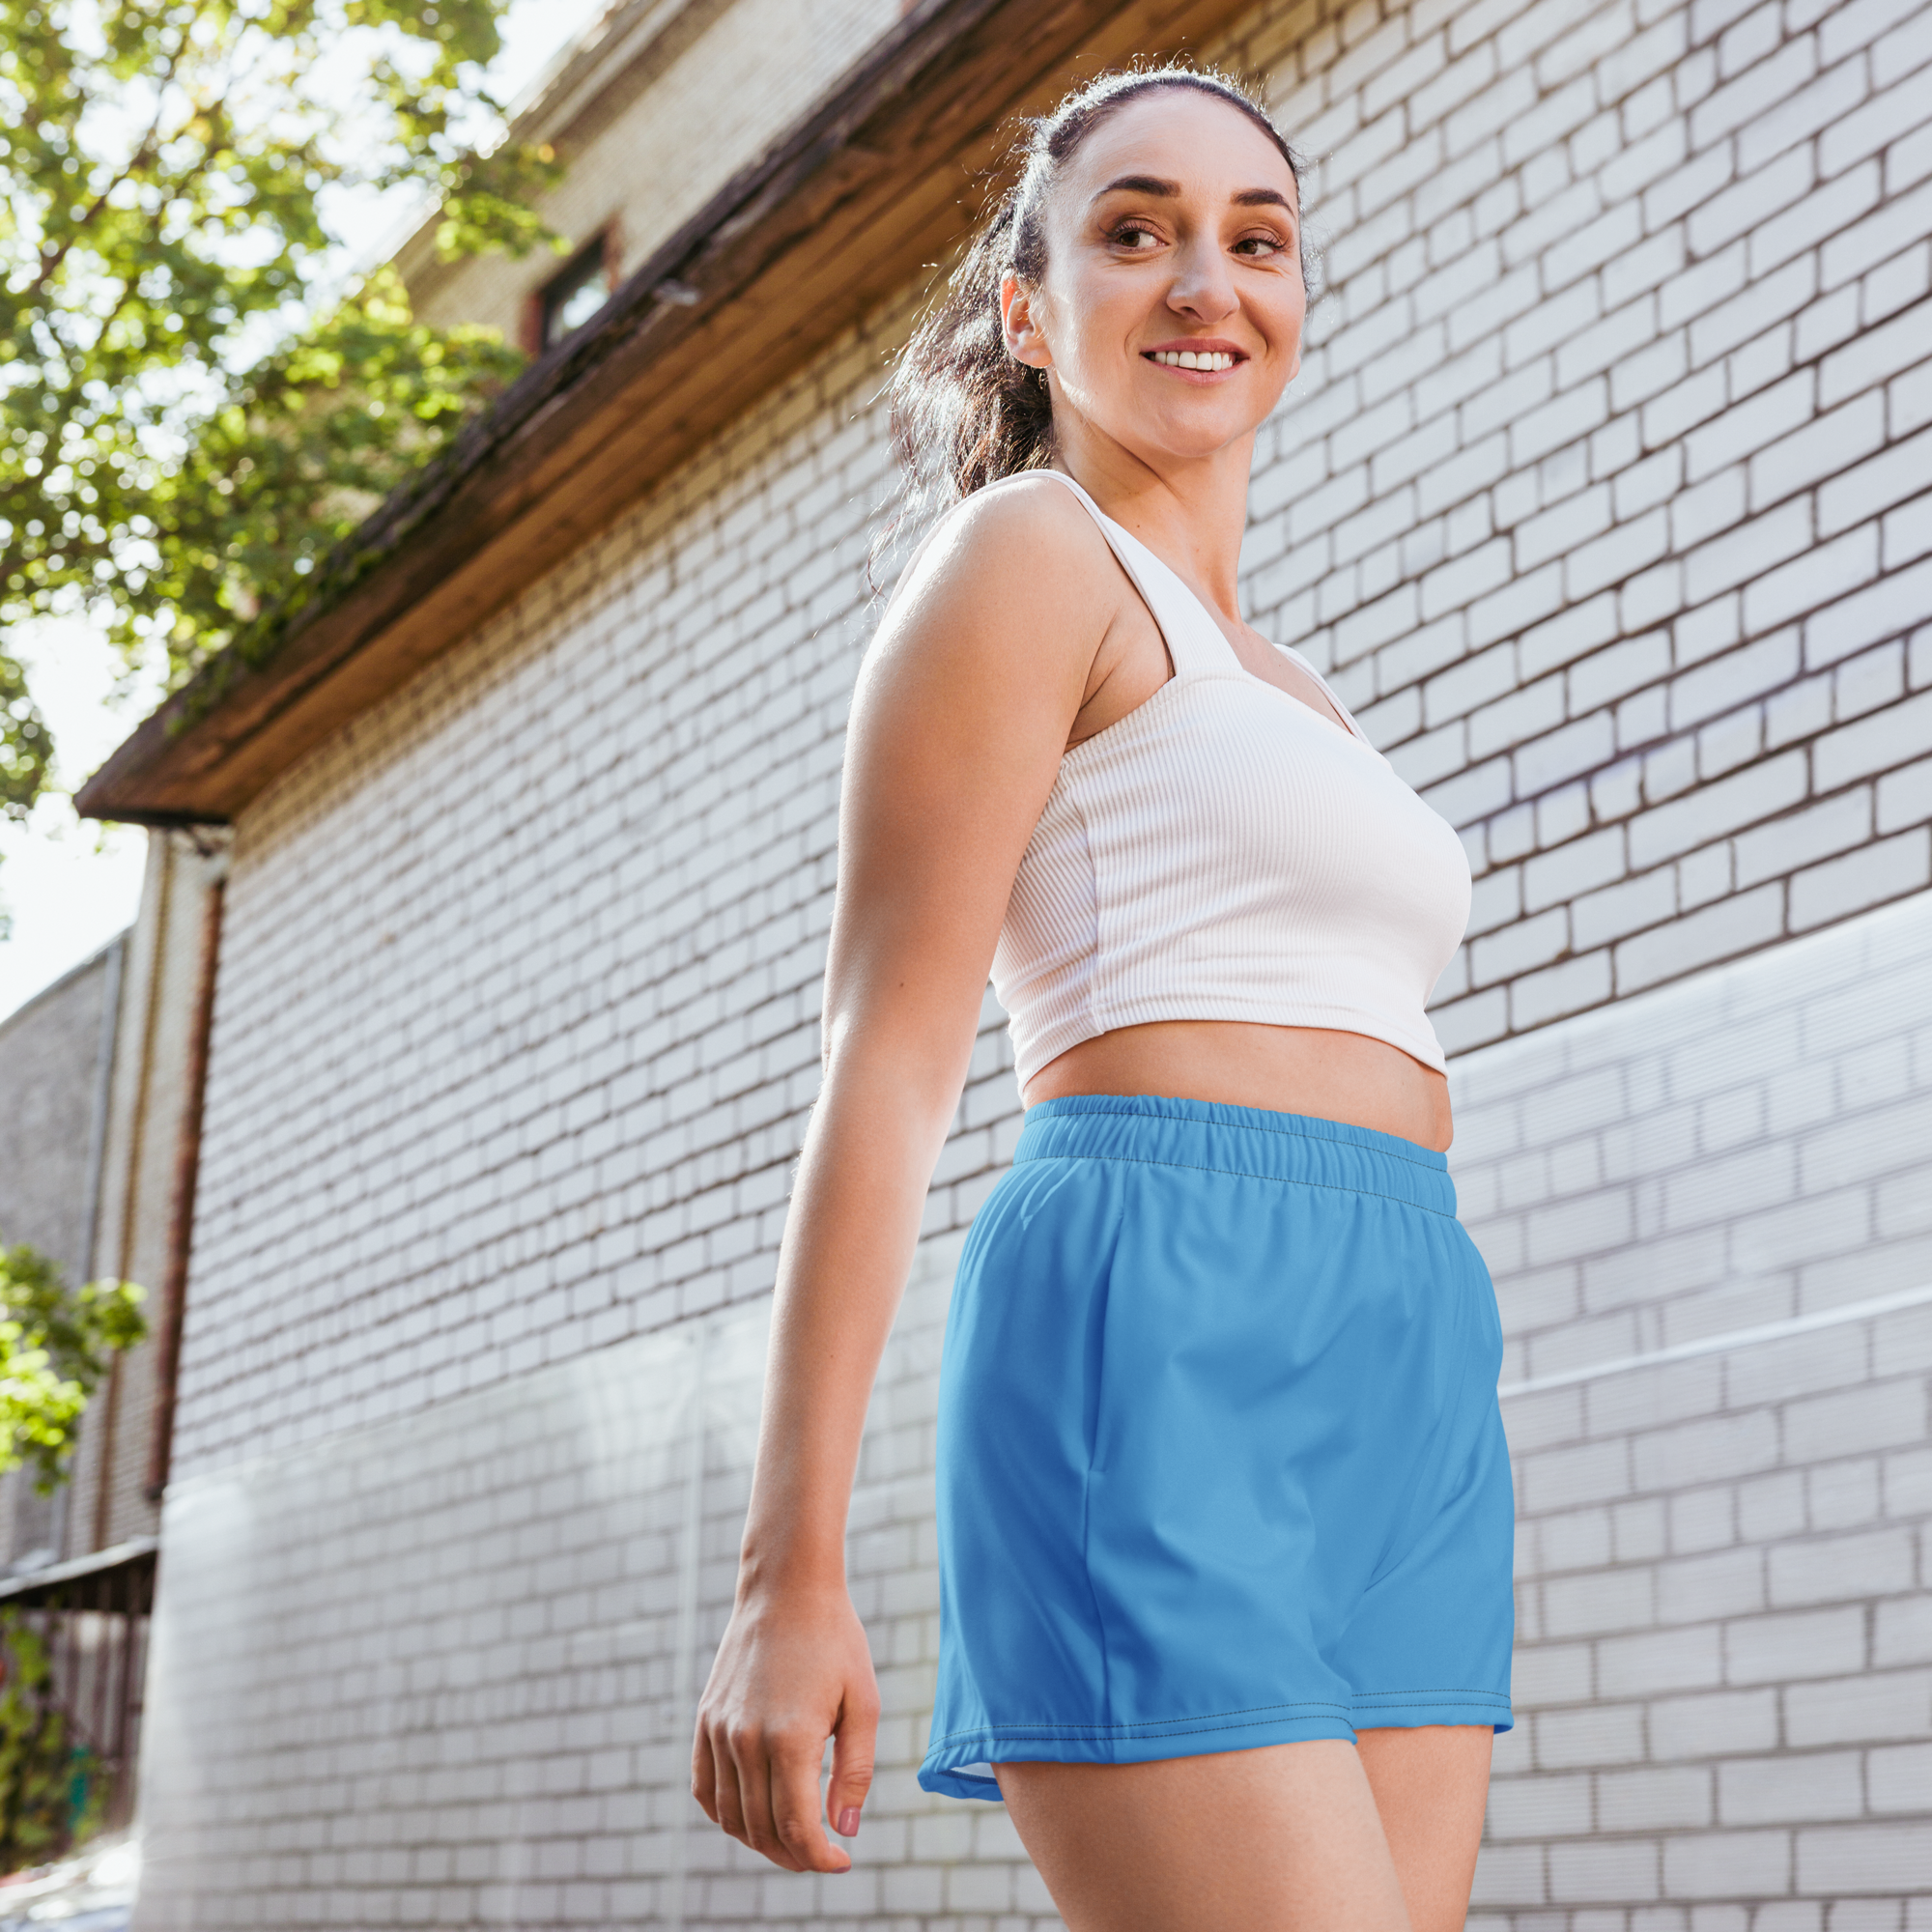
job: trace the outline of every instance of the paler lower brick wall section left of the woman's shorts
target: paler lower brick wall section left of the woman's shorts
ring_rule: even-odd
[[[1005,1810],[914,1781],[958,1246],[920,1250],[852,1501],[883,1704],[852,1874],[779,1872],[688,1797],[736,1582],[757,1302],[170,1492],[141,1932],[1057,1926]]]

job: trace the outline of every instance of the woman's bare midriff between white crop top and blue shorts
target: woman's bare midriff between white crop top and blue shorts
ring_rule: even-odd
[[[1028,1107],[1066,1094],[1157,1094],[1343,1121],[1449,1148],[1449,1082],[1385,1039],[1325,1026],[1150,1020],[1068,1047],[1026,1082]]]

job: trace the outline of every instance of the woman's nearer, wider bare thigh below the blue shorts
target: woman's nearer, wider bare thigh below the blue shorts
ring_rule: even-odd
[[[1343,1739],[995,1772],[1070,1932],[1408,1932]]]

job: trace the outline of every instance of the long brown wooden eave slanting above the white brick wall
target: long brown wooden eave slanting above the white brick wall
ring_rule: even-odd
[[[958,242],[1001,126],[1246,0],[922,0],[798,126],[81,786],[85,817],[224,823],[475,634]],[[692,299],[696,296],[696,299]]]

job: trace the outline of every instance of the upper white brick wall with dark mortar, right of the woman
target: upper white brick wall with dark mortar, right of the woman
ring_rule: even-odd
[[[1451,1049],[1932,883],[1932,10],[1267,8],[1252,614],[1464,829]]]

